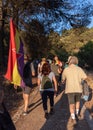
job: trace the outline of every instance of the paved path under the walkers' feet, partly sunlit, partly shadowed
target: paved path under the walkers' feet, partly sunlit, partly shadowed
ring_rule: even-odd
[[[29,114],[27,116],[21,115],[15,126],[16,130],[90,130],[84,116],[76,127],[71,124],[68,100],[64,93],[55,98],[55,114],[46,120],[37,88],[30,96]]]

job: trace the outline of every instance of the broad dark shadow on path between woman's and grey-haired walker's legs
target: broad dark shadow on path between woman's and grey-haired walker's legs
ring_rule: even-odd
[[[90,130],[85,119],[79,120],[77,125],[70,121],[69,105],[66,94],[62,94],[55,104],[55,114],[52,115],[40,130]]]

